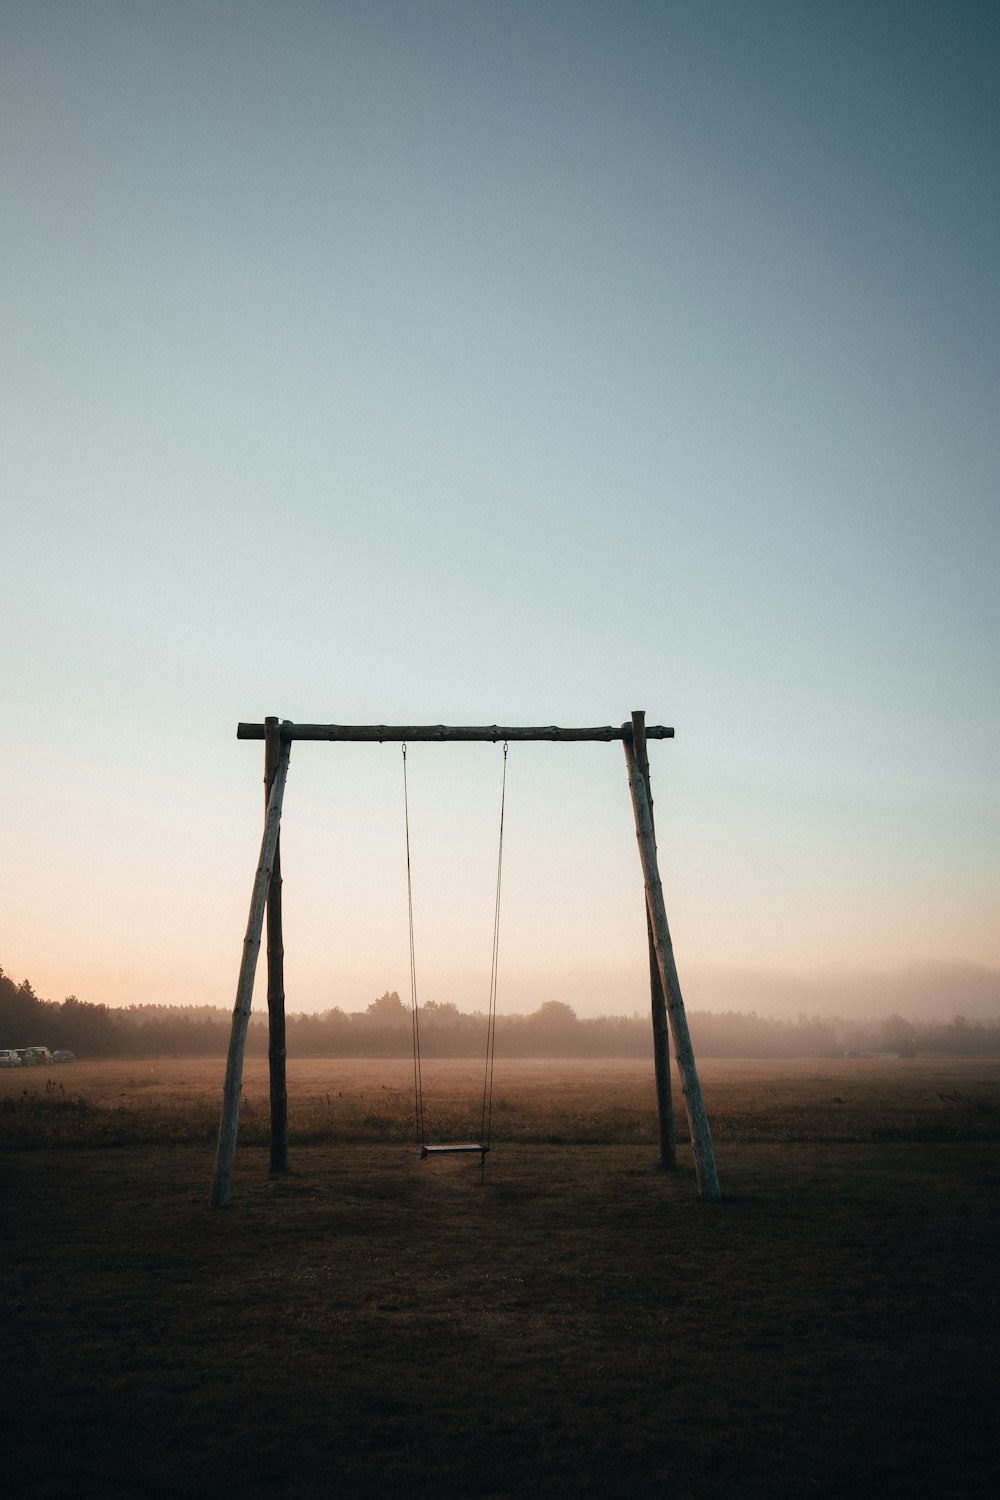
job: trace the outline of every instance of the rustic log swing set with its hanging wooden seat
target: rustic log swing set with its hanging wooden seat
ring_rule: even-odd
[[[676,1166],[673,1137],[673,1107],[670,1098],[670,1054],[667,1035],[673,1038],[673,1053],[681,1074],[684,1107],[691,1132],[694,1168],[699,1192],[705,1198],[720,1198],[718,1173],[712,1149],[712,1134],[702,1098],[702,1084],[694,1062],[694,1048],[688,1032],[681,984],[673,960],[673,944],[667,926],[667,912],[657,864],[657,842],[652,822],[652,796],[649,790],[648,740],[672,740],[673,729],[663,724],[646,724],[643,711],[636,711],[621,728],[604,724],[595,729],[559,729],[555,724],[541,728],[525,726],[448,726],[448,724],[295,724],[289,720],[265,718],[262,724],[241,723],[238,740],[264,741],[264,837],[253,891],[250,914],[243,939],[243,958],[237,981],[237,998],[232,1010],[232,1030],[226,1056],[226,1077],[222,1095],[222,1119],[219,1122],[219,1144],[211,1182],[210,1203],[223,1208],[229,1200],[232,1168],[235,1162],[240,1095],[243,1092],[243,1058],[253,1000],[253,976],[261,948],[264,921],[267,916],[267,1012],[268,1012],[268,1074],[270,1074],[270,1167],[273,1174],[288,1172],[288,1086],[285,1076],[285,948],[282,939],[282,873],[280,873],[280,818],[288,759],[294,740],[399,742],[403,748],[403,798],[406,810],[406,896],[409,912],[409,978],[411,1018],[414,1032],[414,1098],[417,1118],[417,1144],[421,1156],[450,1152],[478,1152],[480,1164],[486,1164],[490,1149],[490,1119],[493,1090],[493,1048],[496,1036],[496,969],[499,936],[499,902],[504,858],[504,801],[507,790],[507,747],[511,741],[615,741],[621,740],[625,750],[628,786],[636,819],[636,838],[642,861],[646,891],[646,938],[649,950],[649,998],[652,1012],[654,1068],[657,1078],[657,1118],[660,1128],[660,1161],[664,1167]],[[412,878],[409,860],[409,800],[406,790],[406,744],[412,741],[492,741],[504,742],[504,784],[501,790],[499,848],[496,862],[496,904],[493,914],[493,957],[490,974],[490,1002],[487,1017],[486,1076],[483,1086],[483,1124],[478,1142],[429,1144],[424,1136],[423,1078],[420,1064],[420,1008],[417,1004],[417,970],[414,960],[414,915]]]

